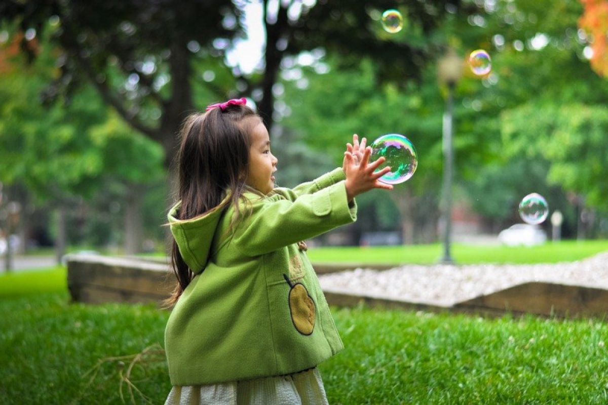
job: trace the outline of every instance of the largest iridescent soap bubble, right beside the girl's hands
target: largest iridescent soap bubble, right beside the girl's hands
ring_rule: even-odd
[[[412,177],[418,166],[418,154],[412,142],[399,134],[382,135],[371,144],[370,162],[380,157],[386,161],[379,169],[390,166],[392,171],[380,177],[382,183],[399,184]]]

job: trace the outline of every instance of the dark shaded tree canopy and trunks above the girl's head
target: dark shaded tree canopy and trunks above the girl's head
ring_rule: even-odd
[[[455,8],[458,2],[407,2],[403,11],[418,32],[416,39],[432,32],[446,7]],[[263,63],[247,75],[238,66],[230,69],[223,64],[230,40],[243,35],[246,4],[237,0],[2,2],[0,21],[18,25],[26,37],[28,32],[40,32],[50,21],[56,27],[54,39],[64,53],[58,55],[62,74],[49,87],[47,96],[64,91],[69,94],[87,80],[120,117],[161,143],[167,167],[176,149],[179,124],[185,114],[204,106],[201,100],[258,90],[260,97],[255,98],[270,128],[272,87],[284,55],[328,46],[350,55],[351,60],[372,55],[384,66],[382,76],[411,77],[418,77],[432,55],[426,44],[390,44],[386,38],[378,38],[378,26],[370,23],[370,14],[378,19],[379,10],[392,7],[392,2],[263,0]],[[26,37],[22,50],[33,58],[35,53],[30,52]],[[406,59],[411,62],[399,63]]]

